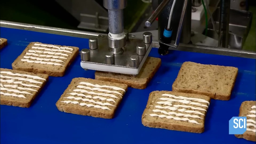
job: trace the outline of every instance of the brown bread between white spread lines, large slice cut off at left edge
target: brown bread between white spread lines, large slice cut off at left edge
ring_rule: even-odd
[[[19,78],[26,78],[26,77],[13,76],[13,75],[1,73],[1,85],[3,85],[3,87],[5,87],[5,85],[18,85],[19,87],[31,88],[31,89],[37,90],[37,91],[19,90],[19,89],[7,87],[8,89],[15,89],[15,90],[19,90],[19,91],[26,91],[26,92],[31,93],[32,95],[31,94],[22,94],[26,98],[20,98],[20,97],[5,96],[3,94],[0,94],[0,104],[1,105],[18,106],[18,107],[30,107],[31,103],[33,102],[35,97],[38,95],[38,93],[40,93],[41,89],[44,87],[44,85],[46,84],[46,82],[48,80],[48,75],[47,74],[35,74],[35,73],[29,73],[29,72],[25,72],[25,71],[10,70],[10,69],[3,69],[3,68],[0,68],[0,71],[10,71],[10,72],[12,72],[14,74],[15,73],[28,74],[28,75],[38,76],[38,77],[46,79],[46,81],[39,80],[39,79],[34,79],[34,80],[36,80],[38,82],[42,82],[42,84],[41,83],[30,83],[28,81],[22,81],[22,83],[24,83],[24,84],[33,84],[33,85],[39,86],[39,87],[27,87],[27,86],[23,86],[21,84],[14,84],[14,83],[3,82],[3,80],[10,79],[10,78],[3,78],[3,77],[6,77],[6,76],[8,76],[8,77],[15,77],[15,78],[17,78],[17,77],[19,77]],[[32,78],[30,78],[30,79],[32,79]],[[21,81],[21,80],[15,79],[14,81],[16,82],[16,81]],[[17,95],[21,94],[21,93],[5,91],[5,90],[2,89],[3,87],[1,87],[1,92],[3,92],[3,93],[10,93],[10,94],[14,93],[14,94],[17,94]]]

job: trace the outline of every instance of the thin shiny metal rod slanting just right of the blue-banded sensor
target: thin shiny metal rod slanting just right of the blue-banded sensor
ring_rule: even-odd
[[[179,45],[179,40],[181,38],[181,31],[182,31],[182,27],[183,27],[184,16],[185,16],[186,9],[187,9],[187,1],[188,0],[185,0],[183,3],[183,6],[182,6],[181,19],[179,20],[178,31],[177,31],[176,39],[174,42],[175,47],[177,47]]]

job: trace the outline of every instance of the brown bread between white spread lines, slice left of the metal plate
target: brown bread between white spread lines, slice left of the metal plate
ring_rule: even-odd
[[[72,53],[65,53],[69,55],[68,57],[66,57],[67,59],[61,59],[63,62],[65,62],[65,63],[61,63],[64,66],[48,65],[48,64],[41,64],[41,63],[28,63],[28,62],[21,61],[21,59],[24,59],[23,57],[26,55],[26,53],[29,53],[29,50],[37,50],[37,49],[32,49],[32,46],[34,46],[35,43],[40,43],[40,42],[31,42],[26,47],[26,49],[22,52],[22,54],[19,55],[18,58],[12,63],[12,67],[14,70],[22,70],[22,71],[27,71],[32,73],[48,74],[54,77],[62,77],[65,74],[65,71],[67,70],[67,68],[70,66],[70,64],[74,61],[74,59],[77,57],[79,53],[78,47],[67,46],[72,48],[73,51]],[[44,44],[44,43],[40,43],[40,44]],[[54,45],[54,46],[66,47],[66,46],[60,46],[60,45]],[[39,51],[45,51],[45,50],[39,50]],[[36,53],[36,54],[40,54],[40,53]],[[46,55],[46,54],[41,53],[41,55]],[[51,55],[51,54],[47,54],[47,55]],[[61,55],[56,55],[56,56],[61,56]],[[44,58],[44,57],[40,57],[40,58]],[[29,59],[29,60],[33,60],[33,59]]]

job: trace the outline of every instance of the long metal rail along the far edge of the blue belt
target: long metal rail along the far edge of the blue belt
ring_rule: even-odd
[[[40,26],[40,25],[2,21],[2,20],[0,20],[0,24],[1,24],[1,27],[11,28],[11,29],[29,30],[29,31],[36,31],[41,33],[58,34],[58,35],[65,35],[65,36],[78,37],[78,38],[91,38],[92,36],[106,35],[103,33],[93,33],[93,32],[80,31],[80,30],[61,29],[57,27]],[[153,41],[152,43],[153,43],[153,47],[159,48],[159,41]],[[177,49],[173,49],[172,47],[170,47],[169,49],[256,59],[256,52],[254,51],[226,49],[226,48],[213,47],[213,46],[190,45],[190,44],[180,43]]]

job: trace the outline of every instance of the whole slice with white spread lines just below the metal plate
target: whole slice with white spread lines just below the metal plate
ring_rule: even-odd
[[[110,119],[127,88],[126,84],[73,78],[56,106],[65,113]]]

